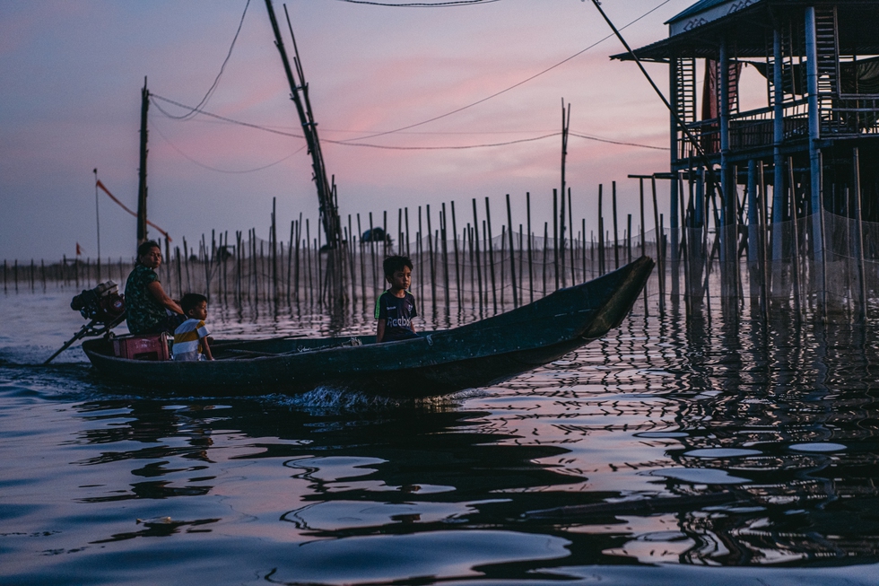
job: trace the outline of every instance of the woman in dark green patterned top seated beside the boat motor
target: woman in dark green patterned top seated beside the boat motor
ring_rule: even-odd
[[[161,288],[156,269],[161,265],[161,248],[155,241],[137,247],[137,262],[126,281],[126,322],[132,334],[174,333],[186,319],[183,308]]]

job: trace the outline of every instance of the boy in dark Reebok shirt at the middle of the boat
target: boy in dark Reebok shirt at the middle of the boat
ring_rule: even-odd
[[[412,284],[412,260],[396,255],[385,258],[382,268],[390,288],[376,301],[376,342],[393,342],[418,337],[412,319],[418,316]]]

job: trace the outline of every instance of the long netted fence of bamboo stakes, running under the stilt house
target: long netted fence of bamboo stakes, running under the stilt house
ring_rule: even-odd
[[[588,240],[586,218],[579,220],[579,226],[574,223],[570,189],[566,197],[559,197],[559,192],[553,190],[552,226],[544,222],[542,236],[532,225],[530,194],[526,194],[525,223],[513,222],[508,195],[506,222],[502,223],[500,234],[496,234],[493,228],[489,198],[484,198],[484,209],[483,202],[474,198],[472,209],[466,211],[468,217],[460,227],[455,202],[448,206],[441,204],[439,214],[431,214],[431,206],[418,206],[413,210],[399,208],[396,238],[388,234],[387,212],[381,214],[380,223],[371,213],[363,217],[361,214],[349,215],[344,223],[343,245],[335,251],[327,250],[322,244],[319,229],[312,234],[309,219],[303,221],[301,214],[290,223],[289,238],[282,239],[278,235],[273,204],[267,240],[258,238],[257,230],[251,229],[233,235],[213,231],[210,241],[203,234],[195,247],[183,239],[182,249],[175,247],[171,250],[170,243],[165,241],[166,262],[160,268],[160,278],[166,290],[175,296],[199,292],[207,294],[212,301],[317,306],[359,302],[366,309],[386,287],[381,274],[382,259],[388,254],[402,253],[413,259],[413,293],[420,298],[422,308],[454,304],[458,309],[478,309],[484,315],[510,306],[517,307],[568,284],[604,275],[629,262],[635,253],[640,253],[657,260],[657,278],[648,284],[648,289],[656,289],[653,293],[658,293],[660,313],[664,311],[667,276],[671,277],[672,291],[668,298],[672,302],[682,297],[680,277],[683,276],[683,301],[687,315],[690,315],[694,303],[697,306],[702,302],[710,304],[709,279],[716,260],[720,260],[720,240],[729,237],[737,241],[736,234],[731,231],[746,229],[748,238],[737,241],[739,249],[735,262],[721,262],[719,269],[714,271],[715,276],[724,271],[735,271],[736,274],[735,291],[722,291],[721,297],[741,299],[750,296],[752,302],[759,303],[764,317],[768,316],[770,299],[787,299],[791,294],[797,310],[804,298],[808,300],[805,302],[818,306],[835,297],[851,307],[859,304],[863,313],[864,300],[868,299],[867,288],[879,290],[872,272],[866,270],[866,264],[872,261],[864,254],[866,249],[879,250],[879,241],[875,238],[879,229],[870,228],[869,233],[862,231],[860,221],[854,228],[843,224],[840,224],[842,228],[824,227],[825,223],[850,223],[851,219],[847,210],[843,210],[844,216],[823,212],[820,222],[824,241],[820,244],[822,258],[827,260],[819,263],[808,251],[819,244],[814,242],[814,230],[810,229],[819,220],[807,209],[806,186],[803,181],[795,180],[792,162],[788,160],[788,196],[790,209],[796,210],[796,214],[791,221],[784,223],[770,218],[770,197],[763,165],[751,167],[745,189],[748,194],[747,218],[732,226],[720,225],[712,189],[700,185],[699,176],[693,172],[686,173],[686,179],[684,175],[676,178],[679,187],[678,222],[683,228],[671,229],[667,237],[665,219],[657,207],[657,179],[649,175],[630,176],[639,179],[640,184],[637,236],[632,229],[631,214],[628,214],[622,231],[620,229],[614,182],[611,190],[612,225],[605,227],[605,193],[603,186],[598,186],[598,230],[597,234],[589,232]],[[647,184],[652,190],[654,226],[650,231],[644,229],[648,222],[645,209],[645,205],[649,205],[645,194]],[[797,186],[799,193],[795,194]],[[856,193],[857,189],[855,186]],[[684,195],[687,193],[689,197]],[[709,213],[712,203],[713,214]],[[697,206],[701,207],[701,212],[697,211]],[[709,230],[712,216],[713,234]],[[438,221],[436,225],[435,219]],[[786,230],[788,232],[784,232]],[[648,241],[648,232],[652,232],[652,241]],[[782,238],[782,233],[789,235]],[[852,244],[851,235],[855,233],[857,239]],[[838,246],[834,242],[840,239],[844,242]],[[776,248],[776,243],[783,244],[785,251],[786,258],[780,263],[770,251]],[[847,256],[846,251],[852,246],[854,251]],[[746,279],[739,274],[740,258],[745,253]],[[666,256],[671,257],[667,268]],[[871,258],[874,257],[875,254],[871,253]],[[45,261],[39,261],[38,265],[34,260],[30,264],[4,260],[4,293],[17,292],[20,288],[35,292],[38,285],[45,291],[49,283],[60,284],[62,288],[74,286],[75,293],[108,279],[122,285],[132,267],[133,259],[124,258],[119,258],[118,262],[63,258],[61,262],[48,265]],[[831,268],[835,273],[828,276]],[[670,275],[666,273],[668,269]],[[823,282],[820,278],[816,281],[816,276],[822,276]],[[745,280],[749,286],[743,291]],[[645,313],[648,313],[648,294],[652,293],[645,293]],[[824,299],[821,299],[822,295]]]

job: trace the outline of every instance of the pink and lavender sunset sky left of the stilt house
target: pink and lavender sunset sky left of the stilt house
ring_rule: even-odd
[[[83,255],[94,258],[92,170],[136,209],[144,76],[154,95],[195,106],[220,72],[246,4],[3,0],[0,256],[70,257],[79,242]],[[605,0],[602,6],[618,27],[648,13],[623,31],[640,47],[665,38],[663,23],[690,4]],[[667,169],[668,115],[637,66],[608,58],[622,46],[614,38],[602,42],[611,31],[591,2],[497,0],[419,8],[292,0],[287,8],[344,224],[348,214],[361,214],[368,223],[370,212],[380,223],[387,211],[390,232],[396,233],[399,207],[409,206],[413,218],[417,206],[430,205],[436,214],[442,202],[454,200],[461,225],[472,219],[473,197],[480,214],[483,198],[490,197],[500,232],[505,195],[516,206],[514,222],[524,223],[530,191],[535,232],[543,232],[552,190],[560,184],[561,136],[436,147],[557,134],[562,99],[570,103],[574,135],[659,147],[570,137],[568,184],[574,215],[587,218],[587,232],[597,225],[599,183],[607,193],[611,181],[618,182],[621,225],[625,214],[633,214],[637,225],[638,183],[626,175]],[[274,9],[283,22],[283,4]],[[283,30],[292,53],[285,23]],[[648,71],[666,91],[666,66]],[[158,105],[171,115],[186,111],[166,101]],[[250,2],[203,108],[298,134],[263,0]],[[315,235],[318,202],[303,139],[205,115],[175,120],[156,103],[149,128],[149,218],[170,232],[172,246],[183,237],[190,244],[203,233],[210,238],[212,229],[234,234],[256,228],[265,238],[273,197],[282,238],[300,213],[311,218]],[[359,145],[331,142],[352,139]],[[667,225],[665,187],[661,193]],[[99,210],[101,255],[130,257],[135,218],[103,193]]]

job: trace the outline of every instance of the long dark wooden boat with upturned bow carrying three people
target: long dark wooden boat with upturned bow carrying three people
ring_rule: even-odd
[[[153,391],[207,396],[301,393],[318,387],[431,397],[485,386],[552,362],[603,337],[631,310],[653,270],[642,257],[593,281],[474,323],[375,344],[374,336],[220,340],[213,362],[147,362],[83,342],[104,377]]]

